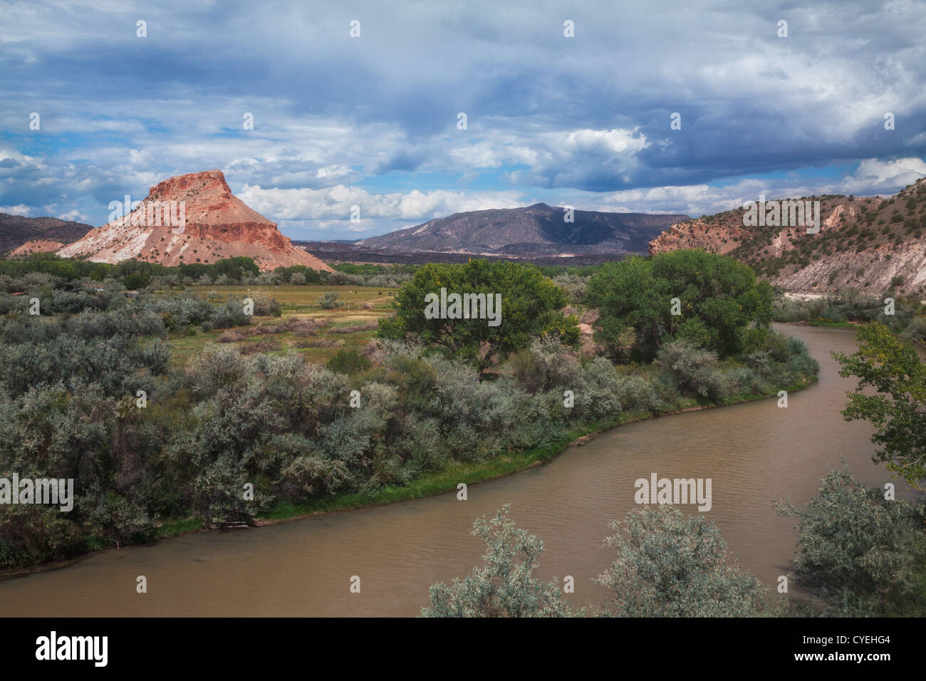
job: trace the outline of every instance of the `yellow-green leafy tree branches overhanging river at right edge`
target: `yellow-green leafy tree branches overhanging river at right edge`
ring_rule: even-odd
[[[857,352],[832,353],[843,365],[841,376],[859,378],[855,392],[847,393],[843,416],[871,422],[877,428],[871,441],[882,446],[872,460],[886,461],[888,471],[921,488],[926,478],[926,364],[878,322],[859,327],[856,338]],[[866,388],[877,393],[866,395]]]

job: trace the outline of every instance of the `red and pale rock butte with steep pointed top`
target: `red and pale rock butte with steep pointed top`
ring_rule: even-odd
[[[185,214],[182,226],[169,219],[170,202],[175,219]],[[91,230],[57,254],[113,264],[133,258],[168,267],[246,256],[262,271],[293,265],[332,271],[304,248],[293,246],[275,222],[232,195],[221,170],[191,172],[157,183],[130,215]]]

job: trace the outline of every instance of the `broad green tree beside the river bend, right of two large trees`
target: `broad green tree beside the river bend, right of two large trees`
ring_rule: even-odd
[[[585,292],[599,310],[595,339],[616,359],[647,362],[675,338],[721,357],[742,351],[749,324],[759,335],[768,328],[772,297],[746,265],[704,250],[607,263]],[[672,298],[680,314],[672,314]]]

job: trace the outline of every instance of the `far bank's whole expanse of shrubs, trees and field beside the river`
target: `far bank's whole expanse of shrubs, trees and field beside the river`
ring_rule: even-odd
[[[484,260],[399,288],[309,284],[236,259],[137,274],[138,296],[106,268],[28,262],[0,277],[0,473],[73,479],[75,501],[0,506],[7,570],[437,494],[818,371],[770,330],[768,284],[701,251],[609,263],[580,286]],[[427,319],[442,287],[500,295],[502,323]]]

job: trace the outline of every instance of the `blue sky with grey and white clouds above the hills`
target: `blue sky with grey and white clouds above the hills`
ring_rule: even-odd
[[[926,175],[926,2],[148,5],[0,1],[0,212],[100,225],[110,201],[219,168],[283,233],[352,239]]]

